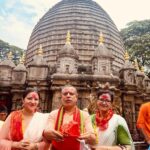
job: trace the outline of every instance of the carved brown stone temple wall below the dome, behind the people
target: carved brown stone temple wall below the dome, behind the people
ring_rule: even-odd
[[[78,106],[81,109],[88,107],[93,113],[96,92],[109,82],[115,93],[114,110],[125,117],[134,140],[140,139],[136,119],[140,105],[150,99],[150,79],[143,72],[127,65],[127,60],[118,72],[119,76],[89,74],[86,71],[59,73],[42,60],[43,57],[36,57],[28,67],[23,64],[14,66],[11,60],[0,63],[0,104],[6,105],[9,112],[21,108],[22,94],[30,87],[39,89],[40,109],[50,112],[61,105],[61,87],[71,84],[79,92]]]

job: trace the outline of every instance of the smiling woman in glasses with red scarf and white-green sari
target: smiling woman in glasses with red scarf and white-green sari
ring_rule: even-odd
[[[114,94],[109,84],[97,94],[97,111],[91,116],[97,134],[95,150],[133,150],[132,138],[123,117],[113,112]]]

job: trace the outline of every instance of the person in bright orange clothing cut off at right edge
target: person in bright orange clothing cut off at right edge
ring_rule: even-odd
[[[141,105],[137,119],[137,128],[141,130],[146,142],[150,145],[150,102]]]

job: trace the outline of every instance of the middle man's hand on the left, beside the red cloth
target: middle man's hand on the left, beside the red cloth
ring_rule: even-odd
[[[53,129],[44,130],[43,135],[48,141],[51,140],[63,141],[63,135],[60,132]]]

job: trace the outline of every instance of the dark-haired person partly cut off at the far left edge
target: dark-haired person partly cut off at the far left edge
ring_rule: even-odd
[[[0,105],[0,129],[4,124],[7,114],[7,108],[4,105]]]

